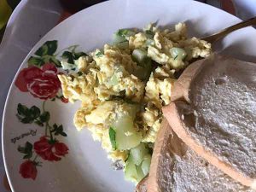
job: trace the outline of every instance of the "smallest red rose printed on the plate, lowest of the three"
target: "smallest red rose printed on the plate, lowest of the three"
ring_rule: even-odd
[[[37,165],[32,160],[26,160],[20,165],[20,174],[24,178],[35,180],[38,174]]]

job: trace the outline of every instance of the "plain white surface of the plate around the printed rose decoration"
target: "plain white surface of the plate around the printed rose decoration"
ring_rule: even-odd
[[[20,70],[23,69],[24,72],[30,56],[34,55],[36,50],[46,41],[58,41],[55,53],[75,44],[79,45],[79,50],[90,51],[109,42],[113,32],[119,28],[143,27],[156,20],[159,21],[161,26],[186,21],[190,34],[197,37],[217,32],[225,26],[240,21],[219,9],[193,1],[113,0],[84,9],[56,26],[36,44],[22,63]],[[218,50],[224,49],[224,52],[230,53],[230,55],[253,61],[255,59],[254,50],[256,49],[255,37],[256,31],[253,27],[247,27],[233,32],[216,47]],[[31,70],[34,71],[35,69]],[[36,79],[26,80],[26,84],[32,87],[31,92],[21,92],[15,86],[15,83],[12,84],[9,90],[3,115],[3,156],[12,189],[15,192],[133,191],[134,185],[125,182],[123,172],[112,170],[107,154],[101,148],[100,143],[93,142],[90,132],[86,129],[78,132],[74,128],[73,114],[79,108],[79,102],[74,105],[65,104],[59,99],[56,99],[55,102],[47,100],[45,110],[50,113],[49,125],[55,123],[63,125],[67,137],[59,135],[56,136],[56,139],[59,140],[59,143],[65,143],[69,148],[68,154],[63,157],[59,153],[60,161],[50,161],[52,158],[49,156],[48,160],[38,157],[36,161],[41,161],[42,166],[37,166],[38,172],[35,180],[21,177],[19,173],[20,165],[25,160],[22,160],[24,154],[18,152],[17,148],[19,145],[24,146],[26,142],[38,147],[40,143],[35,142],[38,142],[39,138],[44,136],[44,127],[34,123],[21,123],[16,117],[17,106],[18,103],[26,105],[28,108],[34,105],[40,108],[41,112],[43,111],[43,100],[32,96],[32,93],[34,94],[37,90],[35,88],[37,84],[34,82],[43,79],[45,73],[42,73],[43,71],[38,71]],[[19,74],[22,76],[20,71]],[[17,75],[15,79],[17,79]],[[48,84],[50,84],[49,81]],[[53,85],[49,86],[49,90],[54,89],[57,88],[54,88]],[[41,93],[41,95],[45,95],[45,93]],[[34,111],[36,110],[34,109]],[[31,130],[37,131],[34,136],[32,136]],[[41,141],[41,144],[44,144],[44,147],[48,145],[44,141]],[[58,147],[60,148],[60,144]],[[55,148],[57,148],[57,145],[55,145]],[[45,151],[38,148],[37,150],[41,151],[42,155],[45,154]],[[61,149],[61,152],[65,151],[65,148]],[[32,159],[34,156],[35,152],[33,151]],[[32,177],[32,169],[29,169],[31,166],[27,165],[22,172],[28,172],[28,176]]]

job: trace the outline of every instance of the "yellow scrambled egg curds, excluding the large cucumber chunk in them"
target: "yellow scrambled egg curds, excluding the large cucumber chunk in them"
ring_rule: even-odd
[[[175,74],[193,58],[210,55],[211,44],[188,38],[184,23],[178,23],[174,31],[148,25],[143,31],[124,37],[124,42],[106,44],[103,49],[79,57],[73,73],[58,77],[63,96],[70,102],[82,102],[74,115],[74,125],[79,131],[89,129],[92,137],[102,142],[109,158],[125,161],[129,150],[114,150],[110,141],[108,130],[112,122],[128,110],[126,103],[137,103],[140,109],[135,114],[134,127],[142,133],[143,143],[154,143],[163,119],[161,108],[171,101]],[[182,49],[185,56],[173,55],[172,48]],[[133,57],[135,49],[146,51],[150,60],[147,79],[139,77],[143,73],[140,70],[147,68]]]

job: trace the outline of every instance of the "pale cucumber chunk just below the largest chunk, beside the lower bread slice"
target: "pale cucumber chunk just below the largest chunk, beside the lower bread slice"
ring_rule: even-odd
[[[144,157],[148,154],[148,148],[146,148],[145,143],[140,143],[136,148],[131,148],[130,156],[135,165],[139,166]]]

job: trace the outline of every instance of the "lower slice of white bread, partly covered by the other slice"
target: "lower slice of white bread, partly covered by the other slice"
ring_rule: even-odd
[[[252,191],[187,148],[166,119],[156,138],[147,187],[147,192]]]

